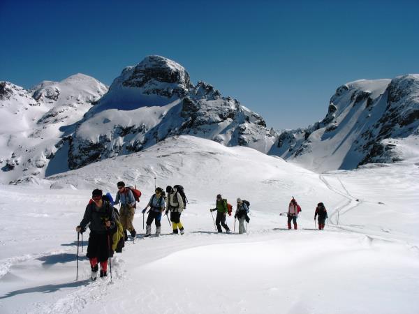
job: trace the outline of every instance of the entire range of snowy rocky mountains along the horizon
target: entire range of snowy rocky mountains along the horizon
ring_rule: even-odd
[[[344,84],[325,119],[281,133],[210,84],[193,85],[182,66],[159,56],[124,68],[109,89],[82,74],[30,90],[0,82],[0,110],[3,183],[59,174],[177,135],[251,147],[316,171],[353,169],[416,154],[419,75]]]

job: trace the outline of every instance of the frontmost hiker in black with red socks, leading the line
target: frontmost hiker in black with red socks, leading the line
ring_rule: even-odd
[[[80,225],[75,231],[84,232],[89,225],[90,235],[87,245],[87,257],[90,260],[91,280],[95,281],[98,263],[101,264],[101,277],[107,276],[108,258],[110,257],[110,230],[115,228],[115,216],[110,202],[102,200],[102,190],[93,190],[91,199],[84,211]]]

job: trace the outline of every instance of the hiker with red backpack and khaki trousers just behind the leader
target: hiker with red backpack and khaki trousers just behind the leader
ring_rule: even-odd
[[[133,226],[134,214],[135,214],[135,197],[131,189],[126,188],[124,182],[119,181],[117,183],[118,192],[115,198],[115,205],[121,203],[119,209],[119,216],[121,218],[122,227],[124,228],[124,241],[128,240],[128,234],[126,230],[131,233],[131,237],[135,237],[137,232]]]

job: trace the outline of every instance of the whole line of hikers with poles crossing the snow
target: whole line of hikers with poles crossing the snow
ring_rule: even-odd
[[[110,193],[103,195],[102,190],[97,188],[93,190],[91,200],[87,204],[80,225],[75,227],[78,235],[86,231],[87,227],[90,229],[87,257],[90,261],[92,281],[95,281],[97,278],[99,265],[101,267],[101,271],[99,272],[100,277],[108,276],[108,260],[110,262],[110,257],[113,256],[114,252],[122,252],[124,241],[128,240],[128,231],[133,241],[137,234],[133,226],[133,218],[136,202],[139,202],[141,193],[135,188],[126,187],[123,181],[117,183],[117,188],[115,202]],[[168,216],[170,212],[172,234],[184,234],[184,227],[180,221],[180,216],[186,208],[187,198],[184,194],[183,187],[179,185],[173,187],[167,186],[166,193],[162,188],[157,187],[154,192],[145,209],[142,209],[143,215],[149,209],[147,212],[148,216],[144,237],[149,237],[152,234],[153,220],[156,225],[156,237],[160,236],[163,212],[165,212],[164,216]],[[117,204],[120,204],[119,211],[114,207]],[[249,207],[249,201],[242,200],[240,197],[237,198],[234,218],[239,221],[239,234],[247,232],[247,227],[244,223],[247,224],[250,220]],[[222,226],[227,233],[230,233],[230,228],[226,223],[226,217],[227,215],[232,215],[233,206],[221,194],[218,194],[216,195],[216,207],[210,209],[211,214],[213,211],[216,211],[216,219],[214,220],[214,216],[212,218],[217,232],[223,232]],[[291,222],[293,222],[294,229],[297,230],[297,218],[300,211],[301,207],[293,197],[286,213],[288,217],[288,229],[291,229]],[[323,203],[317,204],[314,220],[316,220],[316,217],[318,217],[318,229],[323,230],[325,220],[328,218],[328,213]]]

